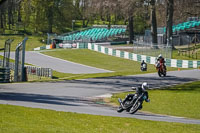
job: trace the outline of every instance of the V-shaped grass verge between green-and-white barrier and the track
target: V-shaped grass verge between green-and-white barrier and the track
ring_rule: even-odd
[[[105,55],[88,49],[60,49],[54,51],[45,51],[43,54],[61,58],[64,60],[102,68],[114,71],[112,73],[98,73],[98,74],[63,74],[54,72],[55,78],[91,78],[91,77],[108,77],[108,76],[123,76],[135,75],[144,73],[156,72],[154,65],[148,65],[147,72],[140,71],[140,62],[131,61],[123,58]],[[168,70],[177,70],[176,68],[168,68]]]

